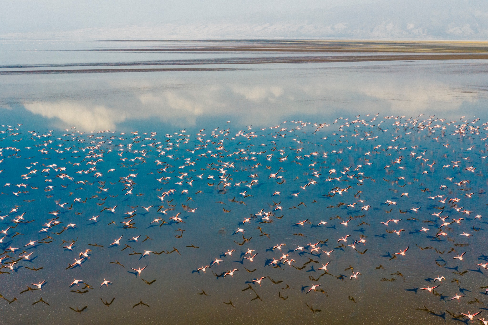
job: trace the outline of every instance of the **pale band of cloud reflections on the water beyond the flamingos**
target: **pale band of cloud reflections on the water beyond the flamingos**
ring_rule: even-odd
[[[30,87],[28,76],[18,76],[25,83],[12,85],[0,78],[0,86],[5,86],[0,97],[9,103],[17,100],[34,115],[51,118],[55,127],[82,130],[114,130],[121,123],[136,121],[188,127],[224,119],[266,126],[288,118],[330,121],[378,112],[450,117],[459,115],[465,104],[481,107],[487,94],[479,89],[488,89],[487,74],[479,75],[473,84],[472,78],[453,74],[453,69],[488,70],[473,65],[398,64],[366,69],[86,75],[73,80],[46,78],[45,88]],[[22,92],[19,87],[24,88]],[[0,107],[9,105],[0,101]]]

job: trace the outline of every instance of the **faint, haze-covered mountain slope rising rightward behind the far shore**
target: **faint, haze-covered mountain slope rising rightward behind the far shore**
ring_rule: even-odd
[[[383,0],[324,10],[258,13],[212,21],[0,34],[2,38],[326,38],[488,40],[488,1]]]

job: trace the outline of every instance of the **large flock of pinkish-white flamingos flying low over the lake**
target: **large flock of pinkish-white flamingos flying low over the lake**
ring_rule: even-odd
[[[194,134],[2,125],[2,313],[56,307],[42,295],[60,288],[106,296],[121,278],[157,293],[144,275],[171,256],[192,265],[174,265],[202,287],[192,299],[227,288],[220,308],[293,301],[316,317],[331,290],[354,308],[362,299],[348,290],[374,283],[414,295],[406,310],[427,320],[488,324],[488,122],[368,114],[231,125]],[[127,303],[114,296],[69,308],[157,306],[137,292]]]

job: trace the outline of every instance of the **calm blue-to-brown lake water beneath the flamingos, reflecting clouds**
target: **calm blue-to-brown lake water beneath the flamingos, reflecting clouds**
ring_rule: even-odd
[[[67,48],[3,44],[2,71],[267,55],[11,51],[34,45]],[[466,321],[468,311],[485,316],[486,271],[476,263],[488,263],[486,61],[205,68],[0,75],[3,320],[442,324]],[[442,226],[439,212],[451,224]],[[390,219],[402,220],[381,223]],[[252,282],[261,277],[261,286]],[[448,300],[456,294],[464,297]]]

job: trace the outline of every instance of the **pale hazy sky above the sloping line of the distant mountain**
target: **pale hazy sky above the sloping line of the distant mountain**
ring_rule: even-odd
[[[31,32],[86,27],[190,22],[249,14],[326,10],[377,0],[7,0],[2,1],[0,30]]]

